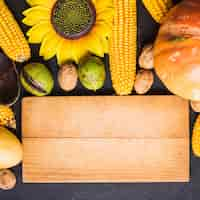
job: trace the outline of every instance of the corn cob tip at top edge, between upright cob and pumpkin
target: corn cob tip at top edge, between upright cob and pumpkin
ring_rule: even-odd
[[[172,7],[172,0],[143,0],[143,4],[157,23],[162,23]]]

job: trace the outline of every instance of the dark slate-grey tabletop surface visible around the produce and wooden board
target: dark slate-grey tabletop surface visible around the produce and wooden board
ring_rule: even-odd
[[[104,0],[105,1],[105,0]],[[15,13],[17,20],[22,19],[22,11],[27,8],[24,0],[7,0],[9,7]],[[20,23],[24,31],[27,27]],[[141,47],[154,40],[158,25],[153,22],[149,14],[138,0],[138,53]],[[42,61],[38,56],[38,46],[32,45],[32,60],[40,61],[53,72],[55,79],[57,74],[56,60]],[[108,59],[105,59],[108,71]],[[18,65],[20,70],[21,65]],[[108,73],[105,87],[98,91],[98,95],[112,95],[110,75]],[[149,94],[170,94],[158,78]],[[59,89],[57,81],[52,95],[95,95],[88,92],[80,85],[78,88],[66,94]],[[22,90],[21,96],[28,96]],[[17,135],[21,137],[21,101],[14,106],[17,113]],[[191,112],[191,126],[195,119]],[[133,155],[134,156],[134,155]],[[52,158],[53,159],[53,158]],[[123,162],[123,161],[122,161]],[[190,183],[146,183],[146,184],[22,184],[21,166],[14,168],[17,174],[18,184],[12,191],[0,191],[0,200],[199,200],[200,199],[200,159],[191,155],[191,180]]]

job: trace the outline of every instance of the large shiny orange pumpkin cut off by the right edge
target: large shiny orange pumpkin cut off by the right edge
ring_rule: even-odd
[[[200,101],[200,0],[172,8],[154,45],[154,65],[174,94]]]

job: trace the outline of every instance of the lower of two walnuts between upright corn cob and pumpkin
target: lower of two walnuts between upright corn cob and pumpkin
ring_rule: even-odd
[[[137,94],[147,93],[153,85],[154,75],[150,70],[140,70],[136,75],[134,88]]]

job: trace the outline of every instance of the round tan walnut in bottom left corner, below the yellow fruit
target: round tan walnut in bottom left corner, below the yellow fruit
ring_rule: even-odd
[[[9,169],[0,170],[0,189],[11,190],[16,185],[16,177]]]

